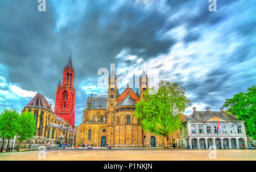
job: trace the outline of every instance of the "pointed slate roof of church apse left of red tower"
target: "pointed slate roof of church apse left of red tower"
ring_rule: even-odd
[[[52,108],[49,106],[46,98],[40,93],[36,94],[34,98],[25,106],[25,107],[42,107],[45,108],[46,110],[52,111]]]

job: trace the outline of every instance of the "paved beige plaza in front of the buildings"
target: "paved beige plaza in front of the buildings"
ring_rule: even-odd
[[[0,153],[1,161],[234,161],[256,160],[256,150],[216,150],[216,159],[210,159],[211,150],[186,149],[112,149],[112,150],[40,150]],[[212,156],[213,157],[213,156]]]

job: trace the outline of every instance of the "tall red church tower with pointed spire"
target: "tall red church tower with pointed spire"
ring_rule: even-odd
[[[55,99],[55,115],[63,118],[73,127],[75,126],[75,100],[76,90],[74,89],[75,72],[72,67],[71,54],[68,64],[63,70],[62,86],[59,82]]]

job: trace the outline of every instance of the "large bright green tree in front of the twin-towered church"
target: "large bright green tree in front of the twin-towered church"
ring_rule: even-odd
[[[136,104],[134,114],[141,120],[142,129],[164,136],[164,148],[168,148],[167,136],[181,127],[179,114],[191,104],[185,92],[177,82],[160,81],[158,93],[147,91],[144,99]]]

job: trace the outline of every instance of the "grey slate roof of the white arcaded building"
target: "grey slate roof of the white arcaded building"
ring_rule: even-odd
[[[221,111],[196,111],[193,112],[187,119],[187,121],[205,121],[213,116],[220,116],[220,118],[227,120],[227,121],[241,121],[238,120],[237,118],[234,118],[233,116],[226,114],[225,112]]]

